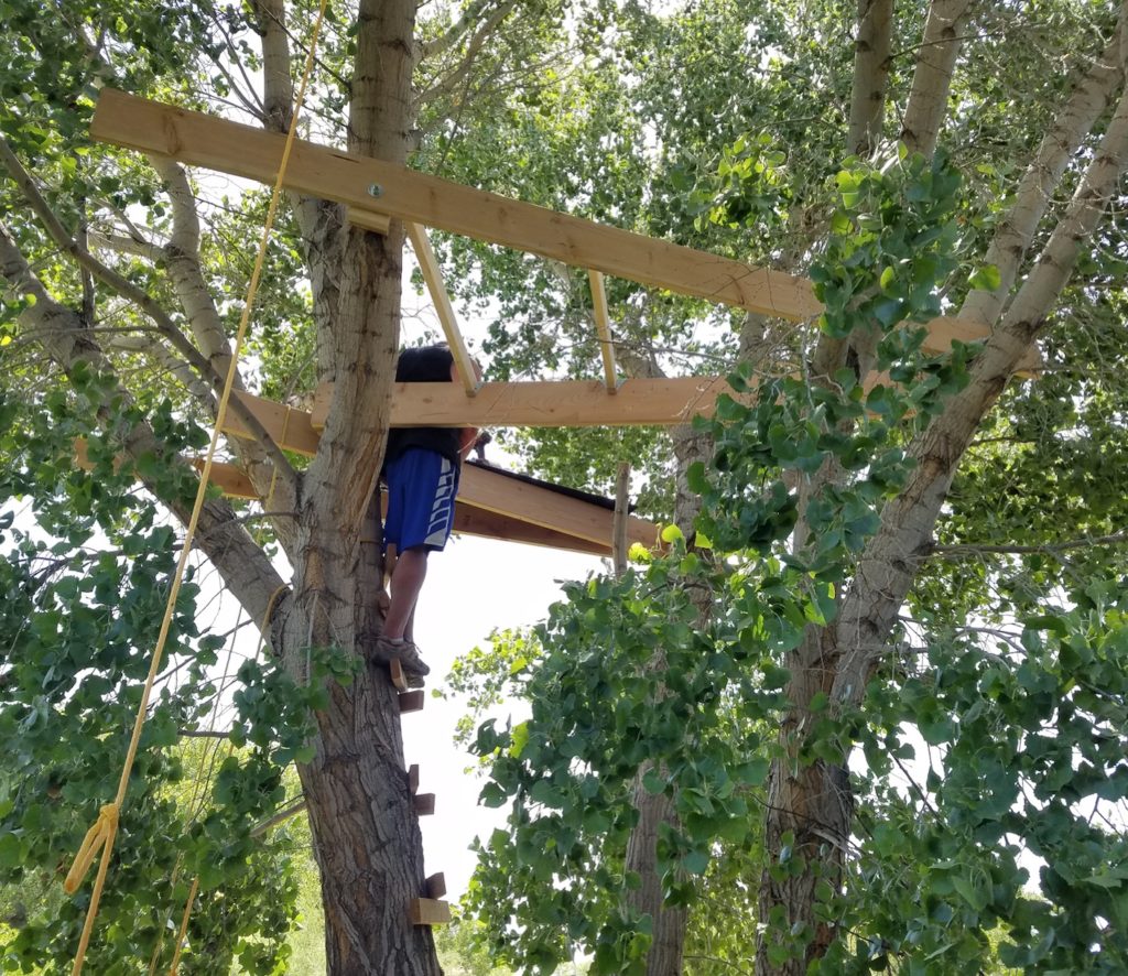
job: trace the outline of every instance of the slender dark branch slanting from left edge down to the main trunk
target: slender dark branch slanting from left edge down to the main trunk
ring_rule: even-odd
[[[123,278],[113,269],[104,265],[92,254],[80,247],[78,243],[70,237],[67,229],[59,221],[59,218],[55,217],[55,213],[51,209],[47,201],[39,193],[38,187],[35,185],[35,181],[32,179],[30,174],[24,169],[23,164],[11,151],[11,147],[8,146],[8,142],[3,139],[3,137],[0,137],[0,162],[3,164],[11,178],[19,186],[24,196],[30,204],[32,210],[35,212],[36,217],[39,218],[39,221],[43,223],[47,235],[55,243],[55,245],[67,254],[71,255],[80,267],[89,271],[107,288],[111,288],[113,291],[122,296],[122,298],[125,298],[136,305],[138,308],[140,308],[152,320],[152,323],[160,331],[161,335],[164,335],[174,345],[176,351],[192,364],[200,376],[208,380],[217,392],[221,390],[223,388],[224,377],[218,373],[212,368],[212,364],[200,354],[200,351],[188,341],[187,336],[180,332],[176,323],[173,322],[160,305],[147,292],[133,284],[133,282],[129,281],[129,279]],[[212,413],[212,415],[214,415],[217,410],[217,403],[214,399],[210,399],[204,404],[204,406]],[[294,472],[289,458],[282,452],[281,448],[279,448],[273,438],[271,438],[271,436],[266,432],[258,419],[235,397],[231,398],[228,408],[239,417],[240,423],[246,424],[246,430],[248,430],[262,445],[263,449],[270,454],[277,468],[279,477],[282,480],[283,484],[289,486],[289,490],[293,492],[293,495],[297,496],[299,482],[298,474]]]

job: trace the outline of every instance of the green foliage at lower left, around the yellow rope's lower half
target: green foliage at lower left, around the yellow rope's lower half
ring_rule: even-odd
[[[103,417],[106,436],[91,429],[88,397],[100,399],[112,380],[80,369],[43,402],[0,390],[0,878],[26,896],[6,971],[73,956],[89,880],[73,898],[39,893],[58,891],[60,865],[114,794],[176,559],[175,534],[136,492],[132,469],[114,460],[115,432],[127,431],[138,411]],[[147,420],[170,450],[199,447],[200,431],[167,404]],[[90,438],[90,473],[73,466],[76,436]],[[170,477],[159,459],[140,465],[158,483]],[[191,489],[174,477],[161,490]],[[203,807],[185,802],[179,731],[214,706],[222,644],[197,630],[197,592],[192,580],[182,589],[141,739],[99,913],[109,938],[88,957],[99,971],[133,971],[120,968],[127,959],[147,967],[160,940],[171,951],[165,926],[179,917],[194,876],[201,894],[182,971],[214,973],[236,956],[247,973],[284,965],[290,842],[249,832],[281,804],[285,765],[308,753],[326,677],[347,679],[349,666],[337,653],[311,652],[311,679],[298,686],[271,665],[247,662],[232,736],[247,747],[217,759]]]

